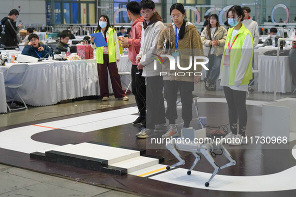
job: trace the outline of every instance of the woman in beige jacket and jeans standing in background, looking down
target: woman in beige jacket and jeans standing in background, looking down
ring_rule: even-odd
[[[206,70],[206,77],[204,78],[204,87],[206,90],[216,89],[216,79],[220,73],[220,63],[224,50],[225,39],[227,36],[227,30],[220,25],[218,15],[210,15],[210,23],[201,32],[202,44],[206,47],[210,47],[207,54],[209,63]]]

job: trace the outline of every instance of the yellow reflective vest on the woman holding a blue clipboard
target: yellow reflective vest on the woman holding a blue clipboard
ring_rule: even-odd
[[[109,63],[116,62],[116,51],[115,51],[115,44],[114,44],[114,34],[116,33],[114,28],[109,27],[109,37],[108,37],[108,56],[109,56]],[[95,31],[97,33],[98,31]],[[103,46],[97,47],[97,63],[104,63],[103,58]]]

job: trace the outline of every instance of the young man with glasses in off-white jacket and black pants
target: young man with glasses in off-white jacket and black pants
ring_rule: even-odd
[[[141,22],[142,37],[141,48],[137,55],[136,63],[138,69],[143,69],[142,76],[146,79],[146,122],[141,131],[136,134],[139,138],[146,138],[154,133],[156,124],[165,124],[165,110],[163,90],[163,76],[161,66],[154,69],[153,53],[157,50],[157,41],[161,31],[164,29],[162,18],[155,11],[155,4],[152,0],[140,2],[141,15],[144,21]]]

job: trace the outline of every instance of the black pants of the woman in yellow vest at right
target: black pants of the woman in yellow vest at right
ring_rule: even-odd
[[[243,126],[247,123],[247,110],[245,105],[246,91],[233,90],[230,87],[224,86],[224,93],[228,104],[228,116],[230,128],[232,124],[239,124],[239,134],[244,134],[241,131]],[[231,130],[233,134],[236,134],[236,130]]]

